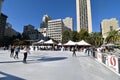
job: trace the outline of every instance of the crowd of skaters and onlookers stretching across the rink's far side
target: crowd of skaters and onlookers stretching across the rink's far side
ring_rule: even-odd
[[[32,47],[32,48],[31,48]],[[48,47],[49,48],[49,47]],[[19,59],[19,53],[21,52],[21,50],[23,51],[23,63],[27,63],[26,62],[26,59],[27,59],[27,55],[28,53],[30,53],[30,50],[32,49],[33,51],[36,51],[36,50],[46,50],[48,49],[46,47],[40,47],[40,46],[9,46],[9,50],[10,50],[10,57],[11,58],[14,58],[14,59]],[[78,48],[78,47],[59,47],[60,49],[58,50],[61,50],[61,51],[66,51],[66,50],[70,50],[70,51],[73,51],[73,54],[72,56],[77,56],[76,54],[76,51],[82,51],[84,53],[86,53],[88,56],[92,55],[93,57],[95,57],[95,48],[93,47],[81,47],[81,48]],[[49,50],[49,49],[48,49]],[[50,49],[51,50],[51,49]]]

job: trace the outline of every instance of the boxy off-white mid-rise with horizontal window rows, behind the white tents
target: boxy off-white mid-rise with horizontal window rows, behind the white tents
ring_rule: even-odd
[[[63,27],[62,19],[48,21],[47,36],[58,42],[62,42]]]

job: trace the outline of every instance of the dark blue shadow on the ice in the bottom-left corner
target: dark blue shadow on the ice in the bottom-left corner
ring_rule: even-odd
[[[0,75],[3,76],[3,77],[0,76],[0,80],[25,80],[23,78],[19,78],[19,77],[16,77],[16,76],[13,76],[13,75],[1,72],[1,71],[0,71]]]

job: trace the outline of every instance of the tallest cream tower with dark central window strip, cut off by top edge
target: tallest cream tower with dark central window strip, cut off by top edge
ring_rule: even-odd
[[[77,31],[81,29],[92,32],[92,18],[90,0],[76,0]]]

